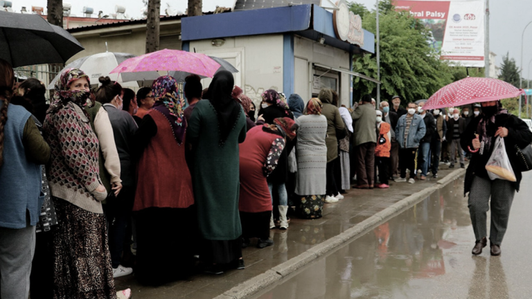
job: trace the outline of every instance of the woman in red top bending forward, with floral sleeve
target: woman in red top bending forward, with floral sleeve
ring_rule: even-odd
[[[269,219],[272,216],[272,196],[266,178],[277,166],[285,148],[286,136],[295,136],[297,125],[290,118],[276,118],[274,125],[253,127],[240,144],[240,222],[242,247],[249,238],[257,237],[257,247],[274,242],[269,239]]]

